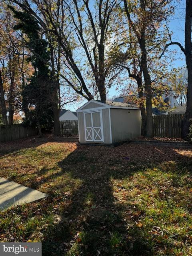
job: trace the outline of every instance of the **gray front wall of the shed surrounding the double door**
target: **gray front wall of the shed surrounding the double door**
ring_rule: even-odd
[[[88,106],[88,108],[91,108],[90,104],[88,104],[87,106]],[[102,142],[102,141],[95,142],[94,141],[93,143],[110,144],[111,143],[111,139],[110,139],[110,120],[109,120],[109,109],[108,108],[102,109],[102,120],[103,120],[103,139],[104,139],[104,142]],[[84,113],[83,112],[78,112],[78,127],[79,127],[80,143],[86,143],[87,141],[85,140],[85,126],[84,126]],[[91,142],[89,142],[89,143],[91,143]]]

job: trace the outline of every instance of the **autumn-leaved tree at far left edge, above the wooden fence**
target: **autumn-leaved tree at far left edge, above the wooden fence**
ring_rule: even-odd
[[[1,68],[1,101],[2,116],[8,112],[8,123],[12,124],[14,114],[21,111],[21,73],[20,65],[24,65],[21,58],[22,38],[13,29],[16,24],[12,12],[5,4],[0,6],[0,68]],[[24,65],[26,68],[26,65]],[[27,68],[26,68],[27,69]],[[28,71],[26,72],[28,76]]]

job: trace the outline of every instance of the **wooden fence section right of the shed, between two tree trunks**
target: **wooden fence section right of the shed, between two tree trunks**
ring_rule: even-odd
[[[153,132],[155,137],[180,137],[184,114],[153,116]]]

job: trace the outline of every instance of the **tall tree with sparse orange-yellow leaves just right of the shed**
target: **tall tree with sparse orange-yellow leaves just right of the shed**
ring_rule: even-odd
[[[121,25],[115,24],[118,26],[116,38],[119,38],[119,34],[123,35],[120,37],[121,42],[118,40],[121,57],[117,63],[137,83],[144,135],[152,137],[154,95],[157,84],[167,73],[167,61],[160,61],[158,54],[168,39],[168,33],[163,30],[163,26],[172,9],[169,7],[170,1],[165,0],[124,0],[123,3],[123,6],[120,4],[118,22]]]

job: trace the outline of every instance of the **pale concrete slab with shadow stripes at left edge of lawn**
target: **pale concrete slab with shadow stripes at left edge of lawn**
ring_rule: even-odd
[[[40,191],[0,178],[0,211],[12,206],[38,201],[45,197],[46,194]]]

